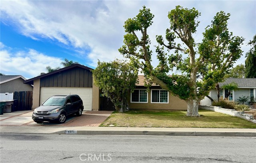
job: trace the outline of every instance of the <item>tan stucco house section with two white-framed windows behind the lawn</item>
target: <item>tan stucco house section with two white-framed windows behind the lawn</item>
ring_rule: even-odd
[[[131,109],[168,109],[168,110],[186,110],[187,104],[184,100],[172,95],[159,85],[153,84],[150,91],[147,92],[144,86],[144,76],[138,76],[139,83],[136,89],[130,93],[128,98]]]

